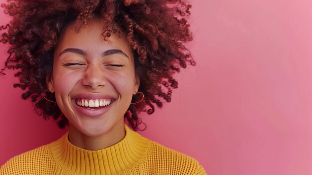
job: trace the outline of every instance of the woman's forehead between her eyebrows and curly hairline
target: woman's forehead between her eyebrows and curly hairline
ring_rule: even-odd
[[[62,34],[54,53],[60,53],[66,48],[80,48],[93,53],[120,49],[132,53],[132,48],[124,34],[111,33],[110,37],[105,38],[103,28],[103,23],[96,19],[81,27],[79,31],[75,30],[74,24],[69,25]]]

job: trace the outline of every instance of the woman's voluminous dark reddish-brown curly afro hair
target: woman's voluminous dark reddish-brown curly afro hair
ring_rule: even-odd
[[[125,5],[124,0],[8,0],[1,4],[12,17],[2,25],[0,41],[8,44],[6,69],[15,71],[23,99],[30,98],[37,114],[53,117],[64,128],[68,120],[49,93],[46,77],[52,74],[53,52],[69,24],[77,32],[92,18],[104,20],[103,36],[124,33],[135,55],[135,71],[140,76],[139,91],[145,94],[139,104],[131,104],[124,117],[137,130],[142,123],[138,113],[152,114],[154,105],[161,108],[170,102],[177,81],[172,77],[187,64],[195,65],[185,47],[192,40],[188,18],[191,5],[185,0],[139,0]]]

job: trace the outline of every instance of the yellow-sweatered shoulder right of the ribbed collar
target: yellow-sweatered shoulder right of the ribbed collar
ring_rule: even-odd
[[[156,164],[158,174],[206,175],[198,161],[180,152],[152,142],[148,157]]]

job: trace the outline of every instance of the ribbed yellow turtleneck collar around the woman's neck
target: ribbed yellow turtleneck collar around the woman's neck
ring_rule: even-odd
[[[68,132],[50,144],[58,166],[81,175],[115,175],[138,164],[147,154],[150,140],[125,125],[125,138],[97,151],[84,150],[68,141]]]

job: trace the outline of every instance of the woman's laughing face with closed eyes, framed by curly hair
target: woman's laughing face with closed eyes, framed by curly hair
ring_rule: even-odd
[[[70,126],[90,137],[124,124],[140,84],[125,37],[112,33],[106,41],[101,29],[98,20],[79,32],[69,26],[54,51],[52,77],[47,78]]]

